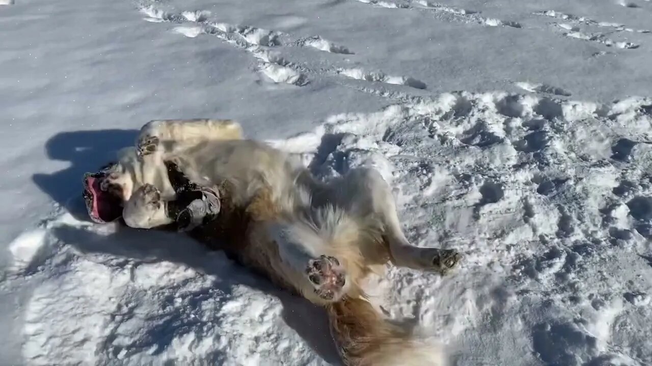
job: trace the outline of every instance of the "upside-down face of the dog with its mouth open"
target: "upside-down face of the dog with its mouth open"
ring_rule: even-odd
[[[111,162],[83,176],[83,197],[91,219],[108,223],[122,216],[132,191],[130,175],[121,163]]]

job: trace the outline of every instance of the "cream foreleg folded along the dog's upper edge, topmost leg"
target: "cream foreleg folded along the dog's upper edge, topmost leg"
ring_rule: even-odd
[[[152,120],[136,141],[139,156],[165,154],[199,141],[242,139],[242,128],[233,120]]]

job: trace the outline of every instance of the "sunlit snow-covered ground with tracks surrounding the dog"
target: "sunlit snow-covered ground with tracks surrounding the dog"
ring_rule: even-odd
[[[0,0],[0,364],[339,364],[320,309],[85,217],[143,123],[215,117],[464,252],[372,289],[454,365],[651,365],[652,2],[442,1]]]

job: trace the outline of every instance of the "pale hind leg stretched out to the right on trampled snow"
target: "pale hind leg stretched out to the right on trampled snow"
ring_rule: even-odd
[[[344,194],[354,212],[381,219],[383,238],[396,266],[445,274],[462,259],[455,249],[416,247],[409,243],[398,220],[391,188],[374,169],[353,169],[344,176],[344,184]]]

